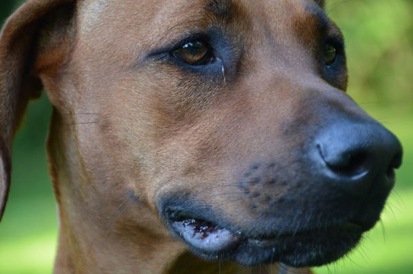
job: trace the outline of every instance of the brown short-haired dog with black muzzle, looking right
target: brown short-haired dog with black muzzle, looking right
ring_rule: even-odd
[[[0,38],[0,212],[44,87],[54,273],[307,273],[356,247],[401,165],[347,78],[324,1],[29,0]]]

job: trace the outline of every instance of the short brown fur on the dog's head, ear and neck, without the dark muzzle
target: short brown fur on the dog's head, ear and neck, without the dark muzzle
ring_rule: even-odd
[[[310,1],[216,1],[221,14],[207,2],[30,0],[6,23],[1,208],[12,137],[41,80],[54,106],[47,152],[60,220],[55,273],[218,273],[216,262],[192,257],[171,236],[158,199],[191,193],[248,227],[268,196],[245,186],[254,205],[247,210],[240,196],[226,202],[221,194],[232,190],[222,182],[240,180],[233,174],[257,157],[270,160],[268,152],[293,161],[289,152],[305,138],[300,119],[317,123],[310,102],[364,115],[342,92],[346,71],[335,82],[320,76],[319,23],[306,9]],[[147,57],[210,25],[243,51],[225,81]],[[267,191],[281,197],[293,190]],[[223,264],[221,273],[237,267]]]

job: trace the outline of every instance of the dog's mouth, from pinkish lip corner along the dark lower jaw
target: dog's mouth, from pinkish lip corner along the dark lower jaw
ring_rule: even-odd
[[[169,209],[169,212],[170,209]],[[166,214],[167,225],[204,260],[233,260],[244,265],[283,262],[290,266],[319,266],[341,258],[359,242],[366,227],[352,221],[317,229],[250,235],[229,224],[193,216]]]

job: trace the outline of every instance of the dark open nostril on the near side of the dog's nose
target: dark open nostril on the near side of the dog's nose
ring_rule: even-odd
[[[366,151],[348,150],[329,157],[323,153],[321,146],[318,148],[321,158],[335,174],[354,178],[364,176],[370,170],[370,157]]]

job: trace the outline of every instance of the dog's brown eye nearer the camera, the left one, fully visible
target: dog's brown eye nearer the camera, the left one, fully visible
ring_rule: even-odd
[[[212,61],[212,54],[207,43],[192,41],[173,50],[173,56],[189,65],[207,65]]]

